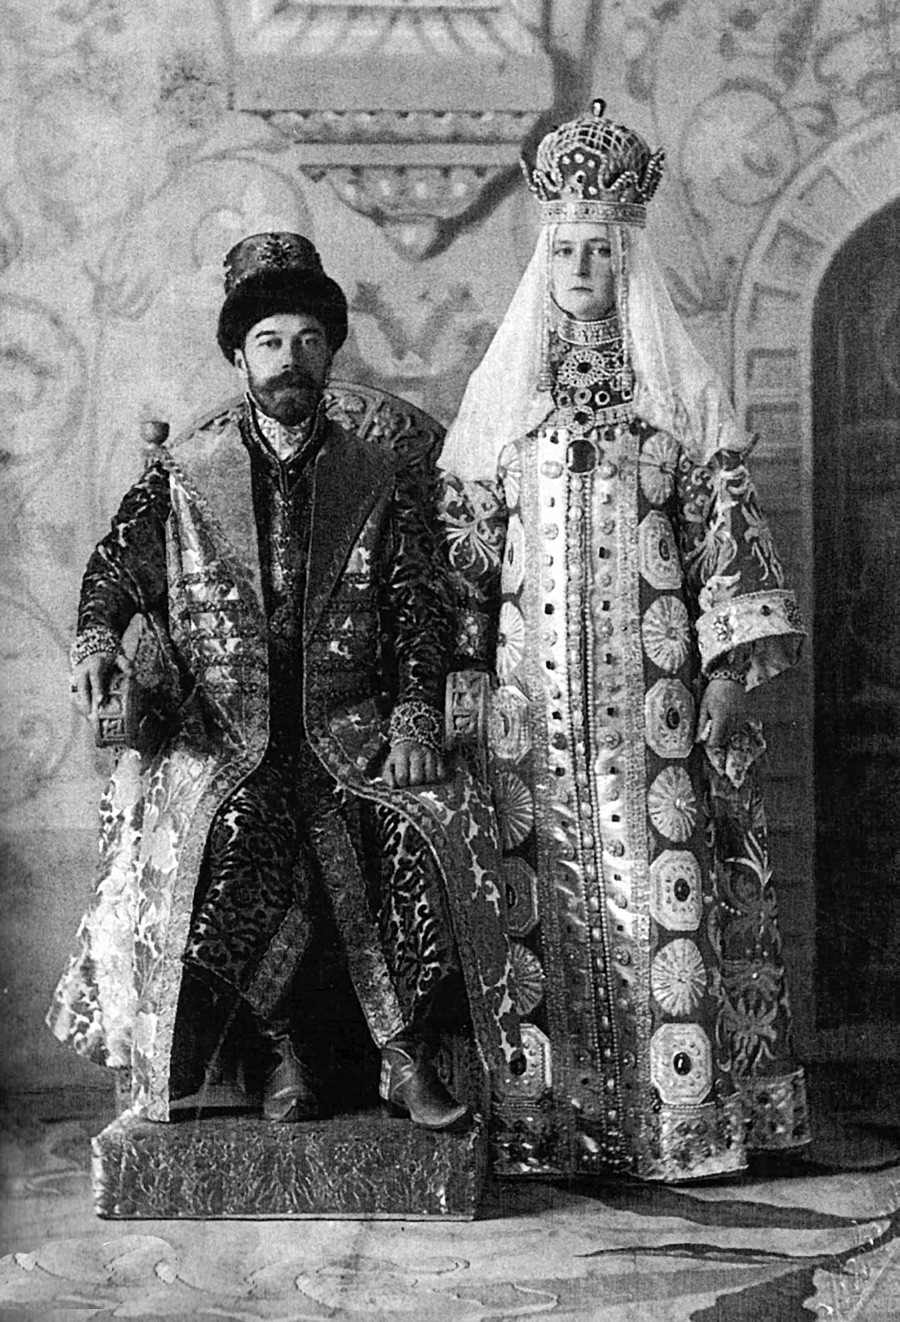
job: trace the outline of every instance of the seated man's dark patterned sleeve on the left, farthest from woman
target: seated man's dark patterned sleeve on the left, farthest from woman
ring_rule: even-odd
[[[87,562],[78,607],[79,639],[89,631],[120,639],[135,613],[165,603],[168,516],[169,475],[155,463],[127,493]]]

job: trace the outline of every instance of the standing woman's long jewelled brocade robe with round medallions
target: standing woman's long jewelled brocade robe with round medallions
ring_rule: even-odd
[[[694,463],[621,410],[578,472],[563,423],[444,492],[464,648],[496,649],[527,1056],[500,1081],[498,1170],[715,1175],[809,1133],[759,792],[695,743],[698,677],[748,645],[759,683],[802,627],[740,453]]]

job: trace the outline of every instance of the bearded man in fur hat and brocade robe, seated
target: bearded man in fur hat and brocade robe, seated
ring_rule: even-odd
[[[140,615],[177,714],[160,748],[118,763],[49,1023],[130,1068],[149,1120],[196,1092],[238,1023],[267,1044],[263,1113],[324,1114],[307,976],[322,947],[381,1048],[382,1097],[414,1122],[465,1117],[433,1067],[441,1026],[470,1015],[485,1063],[519,1059],[492,820],[441,756],[433,475],[326,416],[346,330],[308,239],[238,243],[218,342],[244,397],[160,447],[82,586],[79,710],[96,719]]]

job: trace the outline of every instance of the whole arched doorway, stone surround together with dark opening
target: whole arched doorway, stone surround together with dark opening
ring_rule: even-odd
[[[827,402],[826,393],[838,389],[839,370],[858,373],[858,368],[862,375],[856,374],[852,386],[844,379],[844,393],[850,389],[850,397],[859,402],[860,393],[870,391],[868,366],[860,360],[868,360],[872,352],[876,325],[881,328],[879,334],[895,336],[889,313],[884,307],[872,313],[864,332],[844,324],[842,368],[834,356],[834,328],[821,330],[814,346],[814,321],[818,329],[829,300],[839,319],[842,297],[866,279],[879,283],[879,262],[887,267],[888,259],[867,266],[864,254],[876,231],[881,239],[887,234],[891,243],[889,227],[899,198],[900,112],[876,115],[829,144],[784,190],[748,253],[735,305],[735,402],[745,431],[760,436],[753,473],[810,627],[805,664],[784,683],[767,685],[761,694],[772,751],[769,818],[781,928],[798,1044],[807,1059],[900,1054],[900,1022],[893,1009],[896,964],[893,969],[889,964],[892,954],[896,960],[897,947],[893,952],[888,949],[899,939],[900,891],[887,876],[872,878],[866,883],[868,890],[858,888],[854,899],[852,878],[844,870],[841,879],[837,866],[825,857],[843,850],[846,859],[851,847],[862,847],[859,841],[852,846],[848,826],[839,836],[839,818],[848,816],[842,796],[850,795],[858,783],[864,760],[852,743],[858,731],[852,717],[841,717],[841,735],[827,726],[830,715],[847,702],[851,710],[858,707],[852,689],[858,662],[852,648],[843,646],[842,632],[847,596],[854,595],[854,583],[859,586],[852,578],[859,547],[854,549],[852,538],[848,541],[843,534],[850,529],[854,537],[868,538],[870,578],[864,604],[856,609],[856,632],[871,633],[881,627],[887,639],[887,612],[896,609],[895,571],[889,567],[876,571],[875,562],[880,558],[900,567],[892,541],[893,524],[887,518],[895,504],[887,494],[895,483],[888,460],[895,452],[900,455],[900,448],[891,449],[884,436],[875,444],[871,432],[867,442],[871,467],[860,476],[863,468],[855,463],[859,456],[854,447],[848,440],[835,440],[827,430],[833,423],[833,401]],[[868,230],[870,223],[874,230]],[[888,229],[883,231],[880,226]],[[893,255],[889,262],[895,262]],[[833,267],[834,290],[829,293],[826,288],[819,296]],[[893,275],[887,270],[884,274],[884,284],[889,287],[892,282],[897,284],[896,266]],[[870,299],[875,297],[874,290],[871,286]],[[871,303],[863,305],[871,312]],[[866,312],[862,320],[858,316],[858,325],[862,321],[867,321]],[[892,342],[896,344],[896,336]],[[815,435],[814,379],[819,386]],[[876,410],[881,407],[875,398],[871,402]],[[822,420],[825,412],[831,415],[829,422]],[[842,464],[848,464],[850,472]],[[838,490],[851,481],[860,485],[859,496]],[[842,504],[844,496],[858,502],[856,514]],[[831,513],[818,513],[829,500]],[[862,533],[863,526],[868,533]],[[839,582],[843,586],[838,587]],[[834,592],[843,594],[839,602]],[[875,604],[879,596],[891,600],[880,613]],[[893,624],[889,632],[895,641],[887,646],[900,654],[900,636],[893,633]],[[883,669],[872,673],[884,674]],[[870,697],[874,698],[872,691],[864,689],[863,705]],[[883,743],[884,731],[891,728],[887,719],[876,715],[874,707],[867,709],[867,719],[870,726],[881,722],[878,728]],[[860,763],[855,777],[842,772],[842,783],[834,764],[846,759],[850,750],[859,755]],[[862,791],[870,821],[878,818],[885,824],[878,854],[855,855],[856,866],[862,859],[870,871],[872,859],[876,869],[885,866],[891,829],[887,824],[900,808],[900,798],[892,800],[887,789],[884,768],[880,771],[880,779],[875,775],[878,805],[872,787]],[[881,928],[878,951],[872,924]],[[855,935],[847,935],[841,944],[838,928]]]

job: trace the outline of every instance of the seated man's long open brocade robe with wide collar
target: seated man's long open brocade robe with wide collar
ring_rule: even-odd
[[[311,876],[377,1044],[407,1026],[411,966],[445,953],[416,933],[436,916],[482,1059],[509,1060],[518,1043],[484,791],[463,767],[416,791],[377,776],[393,706],[443,698],[433,473],[330,420],[317,447],[305,472],[279,476],[272,459],[267,475],[247,406],[213,415],[132,489],[86,579],[81,627],[120,635],[133,612],[152,617],[184,701],[159,754],[128,751],[115,768],[96,895],[49,1023],[130,1068],[132,1105],[155,1120],[178,1093],[185,961],[271,1013],[309,940]],[[274,481],[296,500],[279,501]],[[267,804],[267,847],[244,878],[241,834],[262,814],[264,838]],[[297,814],[308,839],[285,869],[279,841]],[[237,921],[242,886],[250,916]]]

